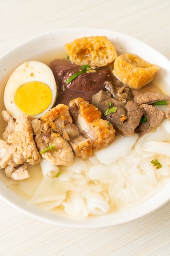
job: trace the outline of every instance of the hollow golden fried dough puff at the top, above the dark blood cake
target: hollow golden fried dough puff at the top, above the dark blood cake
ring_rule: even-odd
[[[65,44],[70,61],[77,65],[104,67],[117,57],[114,45],[106,36],[89,36]]]

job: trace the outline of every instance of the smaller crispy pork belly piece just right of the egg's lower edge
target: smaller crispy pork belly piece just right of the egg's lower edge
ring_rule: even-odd
[[[51,108],[40,119],[68,141],[79,135],[78,128],[73,124],[73,119],[70,116],[69,107],[65,104],[58,104]]]

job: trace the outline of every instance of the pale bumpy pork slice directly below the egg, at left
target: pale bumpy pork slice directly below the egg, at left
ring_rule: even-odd
[[[24,162],[34,165],[41,161],[31,126],[31,117],[20,115],[15,121],[15,131],[8,136],[8,142],[13,144],[19,155],[24,157]]]

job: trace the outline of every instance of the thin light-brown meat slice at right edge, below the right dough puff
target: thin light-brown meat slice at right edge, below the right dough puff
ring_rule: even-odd
[[[157,92],[145,92],[143,94],[140,94],[137,97],[136,102],[139,105],[142,105],[142,104],[152,104],[157,101],[168,101],[168,100],[170,100],[170,97],[164,94],[160,94]]]

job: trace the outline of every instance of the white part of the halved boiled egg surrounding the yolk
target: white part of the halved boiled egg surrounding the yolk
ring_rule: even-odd
[[[45,83],[49,86],[52,92],[52,101],[50,103],[50,106],[40,114],[35,115],[34,117],[41,117],[41,115],[43,115],[50,108],[52,108],[52,106],[54,106],[54,103],[57,98],[57,85],[50,67],[39,61],[24,62],[22,65],[17,67],[16,70],[11,74],[4,90],[5,108],[10,112],[11,116],[15,119],[19,115],[23,114],[22,111],[18,109],[15,105],[15,92],[21,85],[24,85],[25,83],[31,81],[39,81],[41,83]]]

